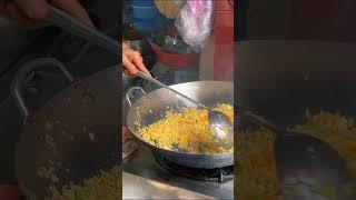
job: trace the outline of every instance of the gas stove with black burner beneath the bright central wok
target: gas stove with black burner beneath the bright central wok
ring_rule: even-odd
[[[167,161],[164,161],[165,163],[162,166],[162,160],[158,161],[155,153],[150,149],[144,147],[144,144],[138,146],[139,148],[130,157],[122,161],[123,172],[149,180],[155,180],[164,184],[181,188],[191,192],[201,193],[216,199],[234,199],[234,176],[231,176],[233,167],[227,167],[226,169],[215,169],[212,170],[215,172],[201,169],[188,169],[187,173],[182,176],[184,168],[172,164],[171,162],[167,163]],[[167,167],[167,164],[170,166]],[[179,170],[177,170],[177,168],[179,168]],[[225,171],[221,172],[220,170]],[[198,173],[192,174],[192,171]],[[229,176],[224,174],[226,172]],[[209,173],[210,176],[207,177]],[[224,174],[225,180],[219,178],[221,174]],[[122,184],[125,188],[125,181]]]

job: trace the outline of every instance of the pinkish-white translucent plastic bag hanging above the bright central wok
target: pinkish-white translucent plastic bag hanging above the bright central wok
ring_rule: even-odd
[[[211,30],[211,0],[187,0],[181,8],[175,26],[190,47],[202,47]]]

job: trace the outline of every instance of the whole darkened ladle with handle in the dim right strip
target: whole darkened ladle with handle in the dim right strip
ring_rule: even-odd
[[[274,144],[280,182],[308,187],[334,188],[339,199],[347,199],[345,186],[348,171],[339,153],[322,140],[303,132],[289,131],[268,122],[250,111],[243,111],[246,121],[276,133]],[[288,180],[289,179],[289,180]],[[290,182],[294,180],[294,182]]]

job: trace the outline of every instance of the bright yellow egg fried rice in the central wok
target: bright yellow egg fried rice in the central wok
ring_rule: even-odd
[[[234,107],[218,104],[215,108],[234,122]],[[209,130],[208,110],[185,108],[181,113],[168,111],[166,118],[139,129],[141,138],[150,144],[168,150],[190,153],[234,152],[224,149],[212,139]]]

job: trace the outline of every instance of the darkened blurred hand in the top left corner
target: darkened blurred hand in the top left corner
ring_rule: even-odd
[[[51,4],[93,27],[89,14],[78,0],[51,0]],[[47,0],[0,0],[0,16],[22,24],[36,24],[49,16],[49,2]]]

